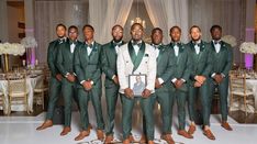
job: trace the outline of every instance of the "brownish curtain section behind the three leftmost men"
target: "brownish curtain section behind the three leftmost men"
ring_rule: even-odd
[[[79,27],[79,40],[82,40],[81,29],[88,22],[87,1],[35,1],[35,37],[38,43],[36,58],[46,63],[48,43],[56,38],[55,26],[64,23]]]

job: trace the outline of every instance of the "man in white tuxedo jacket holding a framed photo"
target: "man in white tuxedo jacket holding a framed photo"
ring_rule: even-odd
[[[134,103],[139,100],[146,118],[146,137],[149,144],[154,144],[154,98],[152,93],[155,89],[156,54],[150,45],[142,41],[144,29],[139,23],[131,26],[131,35],[132,40],[120,47],[116,60],[120,92],[122,93],[123,143],[133,143],[131,136],[132,111]],[[135,96],[130,87],[130,75],[146,75],[146,86],[141,96]]]

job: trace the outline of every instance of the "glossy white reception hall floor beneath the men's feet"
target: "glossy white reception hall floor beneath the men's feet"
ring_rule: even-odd
[[[103,107],[105,103],[103,102]],[[119,102],[116,107],[116,117],[115,117],[115,140],[121,141],[121,104]],[[232,118],[228,118],[234,131],[228,132],[221,128],[220,125],[220,115],[211,115],[211,129],[216,136],[215,141],[208,140],[203,134],[200,126],[197,128],[197,132],[193,135],[194,139],[187,140],[177,134],[178,122],[177,122],[177,110],[174,112],[174,124],[172,124],[172,137],[177,144],[256,144],[257,143],[257,124],[241,124],[234,121]],[[158,107],[155,109],[155,142],[159,144],[165,144],[164,141],[160,141],[160,113]],[[79,112],[72,112],[72,122],[71,122],[71,132],[66,136],[59,136],[59,133],[63,129],[62,125],[54,125],[51,129],[44,131],[36,131],[38,126],[45,119],[45,112],[36,117],[0,117],[0,143],[1,144],[98,144],[101,143],[96,141],[96,118],[92,104],[89,104],[89,115],[90,123],[93,126],[91,134],[82,141],[74,141],[75,136],[79,134]],[[105,109],[103,109],[103,114],[105,114]],[[133,111],[133,135],[136,140],[139,140],[142,133],[142,113],[139,106],[136,104]],[[187,118],[188,120],[188,118]],[[188,126],[188,125],[187,125]]]

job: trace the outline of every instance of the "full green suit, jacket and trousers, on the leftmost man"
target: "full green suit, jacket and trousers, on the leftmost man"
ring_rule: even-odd
[[[56,102],[59,98],[62,82],[56,79],[56,75],[60,74],[56,66],[57,60],[57,53],[58,48],[63,48],[65,45],[65,41],[55,40],[49,43],[47,49],[47,64],[51,70],[51,79],[49,79],[49,101],[48,101],[48,109],[46,114],[46,120],[52,120],[54,114],[54,109]]]

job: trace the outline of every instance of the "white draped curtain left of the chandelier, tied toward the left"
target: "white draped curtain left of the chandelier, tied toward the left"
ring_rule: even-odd
[[[96,30],[100,43],[111,41],[114,24],[125,25],[133,0],[89,0],[89,23]]]

